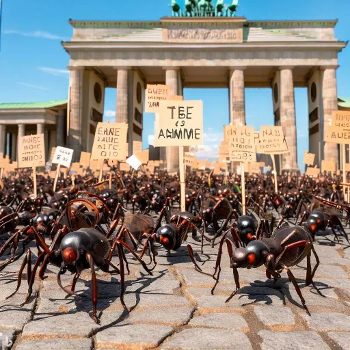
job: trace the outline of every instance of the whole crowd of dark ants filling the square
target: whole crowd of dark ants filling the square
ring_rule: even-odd
[[[202,271],[187,237],[217,249],[212,277],[212,293],[219,282],[224,245],[230,257],[235,290],[239,291],[238,268],[266,267],[267,278],[278,280],[286,270],[301,304],[309,313],[304,297],[290,269],[306,258],[306,285],[322,295],[314,284],[319,258],[314,250],[318,234],[346,249],[350,243],[344,227],[349,224],[350,206],[337,177],[310,178],[286,174],[278,178],[274,191],[271,174],[247,176],[247,213],[241,205],[238,175],[213,172],[187,172],[185,210],[180,211],[179,178],[159,171],[154,174],[113,170],[110,180],[98,183],[89,172],[84,176],[59,178],[53,191],[53,178],[38,176],[38,196],[33,196],[33,180],[27,174],[2,179],[0,191],[0,271],[23,258],[17,287],[27,266],[28,293],[43,278],[46,267],[59,267],[57,282],[68,294],[75,294],[81,272],[92,273],[92,314],[96,323],[98,284],[95,269],[120,275],[120,301],[124,307],[125,273],[130,256],[150,275],[157,265],[157,250],[171,252],[187,246],[194,267]],[[111,188],[109,188],[111,184]],[[345,186],[345,184],[344,184]],[[243,215],[245,214],[245,215]],[[329,239],[329,233],[334,235]],[[38,249],[35,263],[29,243]],[[311,254],[316,265],[311,267]],[[113,260],[113,256],[118,257]],[[115,261],[118,261],[115,262]],[[39,270],[39,271],[38,271]],[[63,286],[61,275],[74,274],[72,284]],[[208,274],[208,273],[206,273]]]

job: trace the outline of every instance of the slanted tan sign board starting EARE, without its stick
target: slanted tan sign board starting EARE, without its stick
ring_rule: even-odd
[[[96,128],[91,159],[118,159],[124,161],[126,157],[126,123],[102,123]]]

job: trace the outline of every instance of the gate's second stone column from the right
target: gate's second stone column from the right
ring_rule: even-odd
[[[280,122],[289,149],[282,154],[282,171],[298,170],[293,67],[280,68]]]

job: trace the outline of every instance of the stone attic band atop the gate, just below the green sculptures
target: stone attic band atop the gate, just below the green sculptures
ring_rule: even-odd
[[[337,21],[247,21],[244,17],[165,17],[160,21],[70,21],[72,42],[338,41]],[[205,29],[206,33],[203,34]],[[208,40],[209,38],[209,40]]]

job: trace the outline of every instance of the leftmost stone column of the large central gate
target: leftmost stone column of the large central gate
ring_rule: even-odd
[[[83,125],[83,67],[70,68],[68,148],[74,150],[73,161],[80,158]]]

